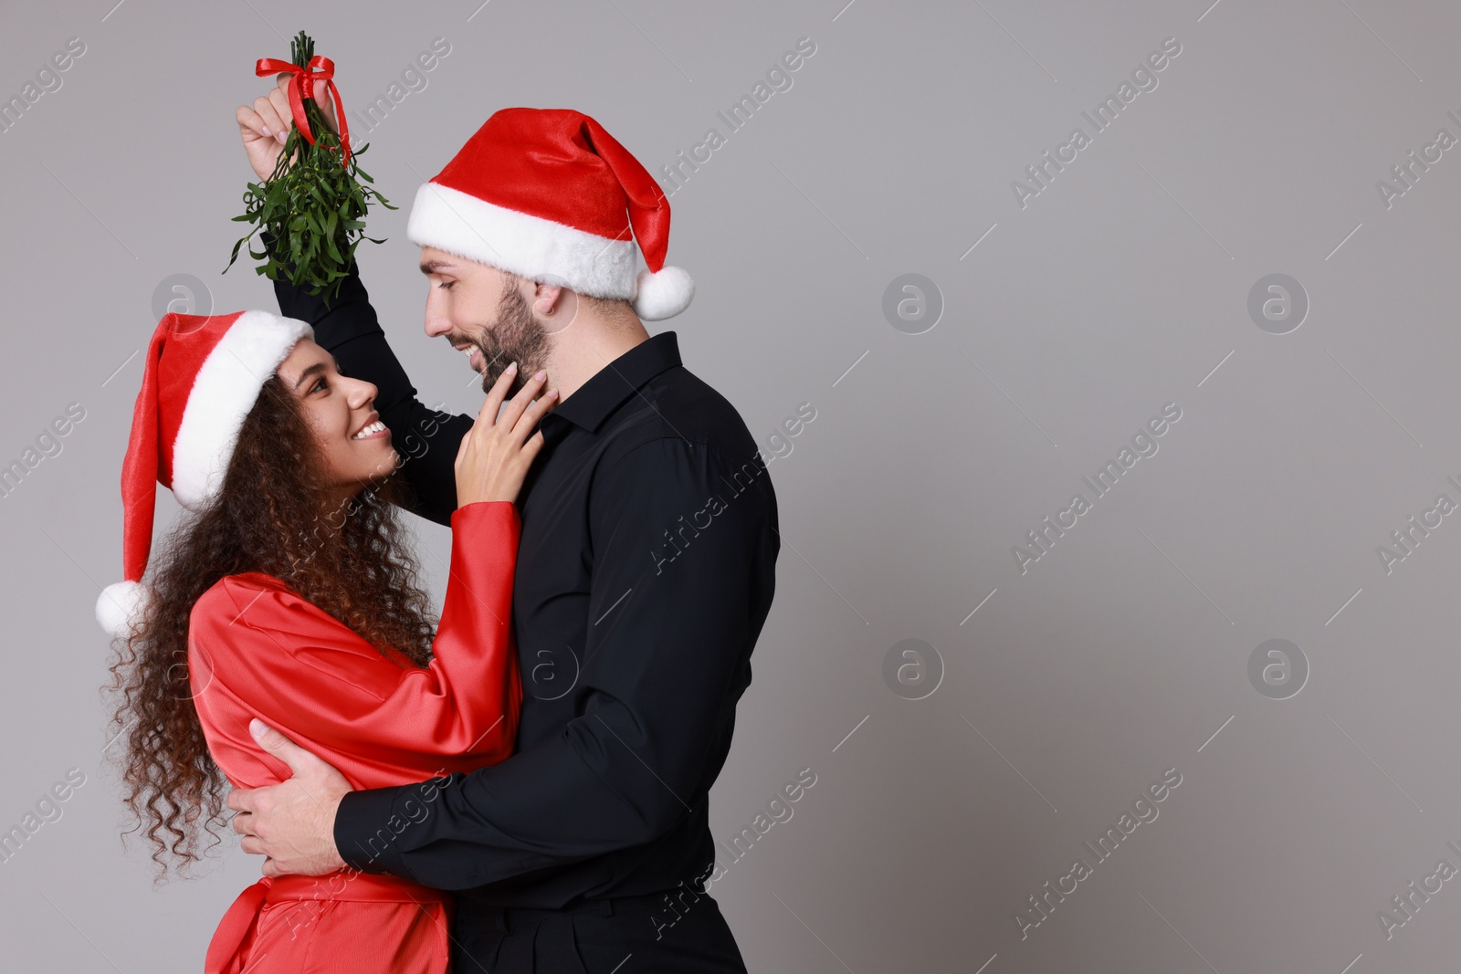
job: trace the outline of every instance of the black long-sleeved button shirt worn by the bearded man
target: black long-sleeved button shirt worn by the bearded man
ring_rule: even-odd
[[[449,524],[470,416],[425,407],[358,273],[326,308],[276,282],[406,459],[422,517]],[[340,856],[473,905],[561,907],[671,889],[714,859],[707,793],[776,587],[776,494],[755,440],[679,361],[630,349],[541,421],[519,496],[513,632],[523,675],[511,758],[421,786],[352,791]]]

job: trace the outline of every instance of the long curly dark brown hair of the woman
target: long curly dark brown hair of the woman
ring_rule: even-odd
[[[188,689],[188,615],[225,575],[259,571],[377,648],[394,647],[416,664],[431,659],[435,622],[408,548],[394,476],[365,486],[332,510],[323,454],[278,377],[264,384],[238,434],[222,489],[184,515],[150,559],[152,599],[120,645],[110,691],[118,694],[112,733],[123,800],[152,841],[155,882],[169,866],[186,876],[203,834],[219,844],[228,780],[213,762]],[[321,530],[321,527],[324,530]]]

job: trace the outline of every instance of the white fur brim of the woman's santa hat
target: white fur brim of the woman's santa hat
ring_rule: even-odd
[[[224,485],[238,428],[259,400],[259,390],[304,337],[314,337],[305,321],[244,311],[209,352],[172,442],[172,495],[178,504],[196,511]]]

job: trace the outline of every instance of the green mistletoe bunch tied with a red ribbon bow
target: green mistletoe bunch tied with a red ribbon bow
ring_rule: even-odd
[[[250,183],[244,191],[244,213],[234,222],[250,223],[251,229],[234,244],[228,267],[238,260],[240,247],[254,234],[267,231],[276,241],[275,253],[248,248],[250,257],[266,261],[254,269],[256,273],[270,280],[283,276],[313,295],[323,291],[330,301],[339,295],[361,239],[386,242],[384,238],[365,237],[365,209],[371,197],[386,209],[399,207],[361,183],[374,183],[358,162],[370,146],[361,146],[354,153],[349,147],[349,126],[333,82],[335,64],[314,55],[314,41],[304,31],[291,42],[291,63],[262,58],[256,69],[260,76],[275,72],[294,74],[289,104],[295,124],[269,180]],[[314,101],[316,85],[320,83],[335,96],[343,137],[329,126]]]

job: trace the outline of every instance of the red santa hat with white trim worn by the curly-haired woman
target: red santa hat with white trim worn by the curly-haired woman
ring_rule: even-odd
[[[202,510],[218,495],[238,442],[238,429],[259,390],[314,329],[267,311],[169,314],[148,345],[142,391],[131,412],[131,437],[121,463],[126,581],[96,599],[96,621],[126,638],[146,612],[142,575],[152,549],[156,485],[178,504]]]

